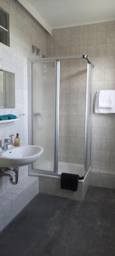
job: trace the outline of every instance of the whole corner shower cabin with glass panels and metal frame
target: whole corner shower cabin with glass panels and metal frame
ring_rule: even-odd
[[[91,165],[93,64],[87,55],[29,61],[29,144],[43,147],[35,175],[86,175]]]

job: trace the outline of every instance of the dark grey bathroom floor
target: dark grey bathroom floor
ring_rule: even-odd
[[[36,196],[0,234],[0,255],[115,255],[114,190],[89,187],[82,202]]]

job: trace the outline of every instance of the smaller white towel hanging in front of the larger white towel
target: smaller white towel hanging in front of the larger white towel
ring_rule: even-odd
[[[113,108],[113,90],[101,90],[99,92],[99,108]]]

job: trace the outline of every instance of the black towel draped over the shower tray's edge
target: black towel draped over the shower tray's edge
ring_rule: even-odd
[[[79,175],[77,174],[61,174],[61,188],[77,191]]]

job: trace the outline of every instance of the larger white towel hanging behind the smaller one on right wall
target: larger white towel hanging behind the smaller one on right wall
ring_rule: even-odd
[[[100,91],[98,91],[97,94],[96,94],[95,113],[97,113],[97,114],[115,113],[115,90],[111,90],[111,91],[112,91],[113,107],[112,108],[100,108],[99,107],[99,94],[100,94]]]

